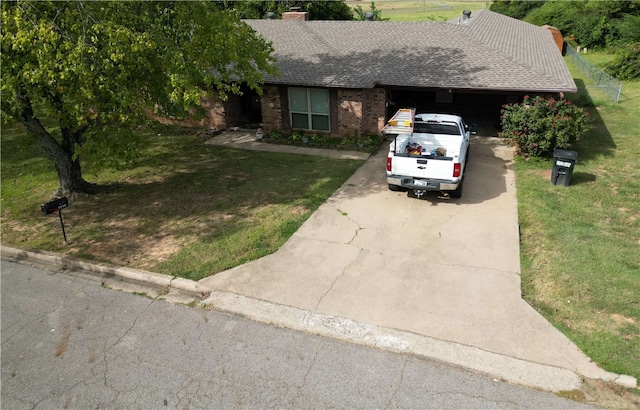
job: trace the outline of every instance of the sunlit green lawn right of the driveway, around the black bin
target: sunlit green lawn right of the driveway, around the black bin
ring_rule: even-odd
[[[640,379],[640,81],[619,104],[567,60],[593,129],[571,185],[516,161],[524,298],[602,368]]]

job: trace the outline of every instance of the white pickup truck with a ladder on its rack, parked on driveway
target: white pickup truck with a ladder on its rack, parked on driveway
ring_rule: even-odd
[[[460,198],[469,139],[476,128],[457,115],[398,111],[382,130],[395,135],[387,156],[389,189],[413,191],[417,198],[427,191],[439,191],[441,198]]]

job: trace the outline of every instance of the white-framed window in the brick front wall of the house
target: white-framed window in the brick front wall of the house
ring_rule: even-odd
[[[329,131],[329,90],[289,88],[289,112],[293,128]]]

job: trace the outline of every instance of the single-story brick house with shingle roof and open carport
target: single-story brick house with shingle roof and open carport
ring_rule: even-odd
[[[557,33],[489,10],[448,22],[307,21],[304,12],[245,22],[273,43],[280,76],[265,77],[262,96],[213,102],[217,128],[353,136],[378,133],[406,106],[496,123],[502,104],[526,94],[576,92]]]

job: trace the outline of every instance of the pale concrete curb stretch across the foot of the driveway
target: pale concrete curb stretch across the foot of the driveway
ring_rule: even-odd
[[[217,310],[240,314],[258,322],[382,350],[412,354],[546,391],[576,390],[582,385],[582,379],[567,369],[527,362],[471,346],[309,312],[242,295],[213,292],[205,303]]]

